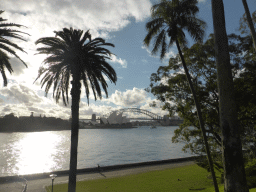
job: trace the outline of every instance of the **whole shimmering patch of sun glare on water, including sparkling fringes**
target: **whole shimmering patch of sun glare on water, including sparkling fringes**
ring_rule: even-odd
[[[15,133],[5,145],[3,154],[6,158],[2,173],[31,174],[50,172],[61,169],[67,155],[63,143],[68,137],[57,132]]]

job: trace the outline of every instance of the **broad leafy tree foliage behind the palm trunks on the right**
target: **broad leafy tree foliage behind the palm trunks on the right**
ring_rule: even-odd
[[[256,63],[251,37],[229,35],[229,52],[243,147],[256,151],[252,150],[256,149]],[[205,43],[184,48],[183,53],[200,101],[211,151],[217,153],[221,151],[221,134],[213,35]],[[185,152],[190,149],[195,154],[205,154],[193,96],[180,62],[179,55],[176,55],[170,58],[168,66],[159,67],[151,75],[147,90],[163,103],[163,109],[168,110],[170,116],[176,113],[184,119],[175,130],[172,141],[184,142]]]

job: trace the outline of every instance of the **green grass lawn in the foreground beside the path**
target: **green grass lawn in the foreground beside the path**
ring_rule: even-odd
[[[214,192],[209,173],[198,165],[189,165],[162,171],[151,171],[115,178],[77,182],[76,192]],[[220,174],[216,171],[219,182]],[[222,189],[222,190],[221,190]],[[51,191],[51,186],[46,187]],[[68,184],[54,185],[54,191],[67,192]],[[223,185],[220,185],[223,191]],[[256,192],[251,189],[250,192]]]

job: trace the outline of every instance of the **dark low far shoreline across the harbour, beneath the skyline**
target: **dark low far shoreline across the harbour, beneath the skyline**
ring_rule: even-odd
[[[178,126],[183,120],[165,120],[161,122],[152,121],[133,121],[125,123],[96,123],[96,119],[92,118],[90,122],[80,122],[79,129],[127,129],[127,128],[137,128],[139,126]],[[71,130],[71,121],[64,120],[55,117],[42,117],[33,116],[20,116],[17,117],[13,113],[5,115],[0,118],[0,132],[40,132],[40,131],[62,131]]]

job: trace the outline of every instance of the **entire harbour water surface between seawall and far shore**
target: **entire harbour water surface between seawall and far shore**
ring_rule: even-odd
[[[192,156],[172,143],[177,127],[79,130],[78,168]],[[69,169],[70,131],[0,133],[0,177]]]

